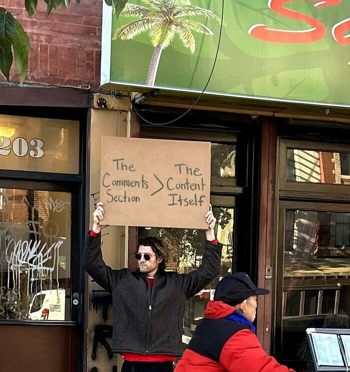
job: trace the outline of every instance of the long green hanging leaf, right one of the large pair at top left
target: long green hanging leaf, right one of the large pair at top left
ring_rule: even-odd
[[[13,53],[21,83],[23,82],[28,71],[29,50],[30,42],[28,35],[23,30],[22,25],[16,21],[16,30],[13,37]]]

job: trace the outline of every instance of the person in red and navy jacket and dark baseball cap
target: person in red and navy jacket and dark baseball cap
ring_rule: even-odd
[[[255,336],[256,298],[267,293],[244,272],[223,277],[174,372],[294,372],[267,355]]]

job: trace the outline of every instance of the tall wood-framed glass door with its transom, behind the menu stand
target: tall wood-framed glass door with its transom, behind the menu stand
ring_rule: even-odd
[[[275,354],[312,370],[306,328],[349,328],[350,148],[282,140]]]

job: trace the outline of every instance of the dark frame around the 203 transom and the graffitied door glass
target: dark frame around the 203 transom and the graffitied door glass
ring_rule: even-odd
[[[53,172],[32,172],[1,169],[3,188],[61,191],[71,194],[71,231],[70,231],[70,320],[50,321],[46,325],[78,325],[84,321],[84,270],[81,257],[86,231],[85,199],[86,199],[86,108],[57,107],[21,107],[0,106],[3,115],[26,116],[43,119],[61,119],[78,122],[79,125],[79,168],[78,174]],[[42,180],[42,181],[38,181]],[[74,249],[74,247],[77,247]],[[73,293],[77,292],[78,305],[73,305]],[[1,319],[0,324],[42,324],[40,320]]]

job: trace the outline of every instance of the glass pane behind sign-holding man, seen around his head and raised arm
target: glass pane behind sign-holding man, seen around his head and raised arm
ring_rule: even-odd
[[[207,302],[213,298],[214,288],[219,277],[228,275],[232,271],[233,213],[233,208],[213,208],[213,214],[217,219],[216,237],[223,244],[220,274],[202,291],[186,302],[182,336],[184,346],[189,342],[198,321],[202,319]],[[174,228],[138,228],[138,238],[145,236],[158,236],[167,246],[169,252],[167,270],[189,273],[196,270],[201,264],[205,241],[203,231]]]

